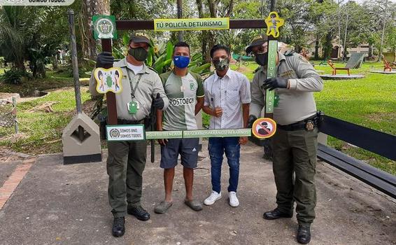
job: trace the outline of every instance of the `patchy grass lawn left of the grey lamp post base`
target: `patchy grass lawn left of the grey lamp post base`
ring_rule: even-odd
[[[81,99],[90,99],[87,87],[81,88]],[[29,109],[46,102],[55,102],[53,112],[30,112]],[[62,152],[62,131],[76,111],[73,87],[50,92],[40,99],[17,104],[17,120],[20,134],[13,127],[0,127],[0,146],[10,146],[13,151],[27,154]]]

